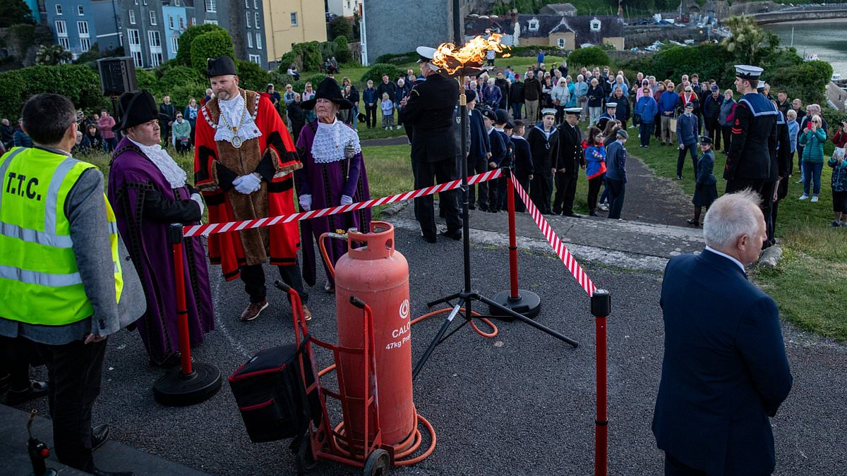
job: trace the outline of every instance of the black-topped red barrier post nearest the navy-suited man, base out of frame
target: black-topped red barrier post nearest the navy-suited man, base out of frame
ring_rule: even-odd
[[[591,314],[595,316],[597,347],[597,416],[594,433],[594,473],[606,476],[609,418],[606,414],[606,317],[612,313],[612,296],[609,291],[597,290],[591,295]]]

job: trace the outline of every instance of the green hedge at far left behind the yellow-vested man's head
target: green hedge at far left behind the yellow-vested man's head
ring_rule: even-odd
[[[85,110],[109,105],[100,91],[100,77],[80,64],[32,66],[0,73],[0,91],[4,96],[0,101],[0,116],[13,122],[20,116],[24,102],[42,92],[61,94]]]

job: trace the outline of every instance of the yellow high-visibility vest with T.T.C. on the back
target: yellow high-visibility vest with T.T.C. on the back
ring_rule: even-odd
[[[0,318],[65,325],[94,313],[64,213],[69,191],[91,163],[41,148],[15,147],[0,158]],[[123,277],[118,225],[106,196],[115,299]]]

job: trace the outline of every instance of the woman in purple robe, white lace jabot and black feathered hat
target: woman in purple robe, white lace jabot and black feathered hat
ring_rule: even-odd
[[[340,109],[352,108],[352,102],[341,97],[338,83],[332,78],[323,80],[315,97],[302,103],[303,109],[314,109],[318,119],[308,123],[296,140],[303,168],[295,172],[297,196],[304,211],[349,205],[370,199],[368,174],[362,157],[359,136],[352,127],[338,120]],[[303,279],[315,284],[314,241],[320,235],[335,230],[369,231],[370,208],[340,213],[318,219],[302,220],[300,234],[303,251]],[[326,252],[333,266],[347,252],[347,242],[327,240]],[[335,291],[335,280],[324,263],[324,290]]]

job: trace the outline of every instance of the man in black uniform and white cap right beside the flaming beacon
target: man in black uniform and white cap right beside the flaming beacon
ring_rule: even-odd
[[[456,178],[456,141],[453,136],[456,121],[453,115],[458,102],[457,85],[438,73],[438,67],[432,64],[434,53],[435,48],[418,47],[418,63],[426,80],[412,87],[400,109],[403,124],[412,126],[412,168],[416,189]],[[441,235],[458,240],[462,238],[462,219],[455,194],[456,191],[439,194],[447,222],[447,229]],[[438,229],[435,227],[431,195],[415,198],[415,216],[421,225],[424,241],[435,243]]]

